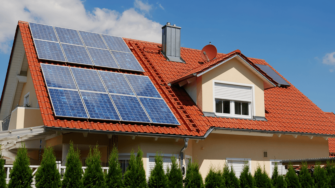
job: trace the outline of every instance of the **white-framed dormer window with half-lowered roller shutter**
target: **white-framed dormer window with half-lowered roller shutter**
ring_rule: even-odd
[[[213,80],[215,115],[252,118],[254,85]]]

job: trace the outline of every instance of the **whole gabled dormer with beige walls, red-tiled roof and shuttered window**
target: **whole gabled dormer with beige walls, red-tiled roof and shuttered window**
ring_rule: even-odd
[[[240,50],[200,65],[171,84],[184,87],[204,116],[255,120],[266,120],[264,89],[280,86]]]

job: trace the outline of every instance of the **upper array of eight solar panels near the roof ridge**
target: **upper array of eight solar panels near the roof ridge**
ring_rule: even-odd
[[[39,59],[144,72],[121,37],[31,22],[29,27]]]

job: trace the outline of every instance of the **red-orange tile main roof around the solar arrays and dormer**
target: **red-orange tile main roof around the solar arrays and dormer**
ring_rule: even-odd
[[[43,122],[46,126],[185,136],[203,136],[210,127],[335,134],[335,119],[330,118],[329,114],[318,108],[292,84],[290,87],[274,87],[264,91],[265,109],[267,111],[265,117],[268,121],[204,117],[202,111],[196,106],[184,89],[181,89],[178,86],[172,86],[167,88],[167,90],[170,90],[170,93],[164,93],[162,87],[167,86],[161,85],[165,85],[173,80],[181,78],[185,74],[189,74],[190,72],[192,73],[192,71],[204,70],[208,66],[211,66],[219,60],[222,60],[234,53],[238,53],[243,56],[251,65],[254,63],[262,65],[269,64],[261,59],[247,58],[238,51],[234,51],[229,54],[218,54],[215,61],[212,60],[209,63],[203,64],[204,62],[200,55],[201,51],[189,48],[181,48],[181,56],[186,61],[186,64],[169,62],[166,61],[161,53],[159,53],[161,50],[161,44],[128,38],[124,38],[124,40],[130,47],[133,47],[134,45],[138,46],[138,48],[135,48],[132,51],[145,70],[143,74],[149,76],[149,78],[153,81],[155,87],[160,92],[168,106],[172,109],[181,125],[157,126],[152,124],[128,122],[123,124],[122,122],[115,121],[83,121],[80,119],[55,117],[52,112],[47,89],[40,70],[41,62],[53,62],[41,61],[37,59],[28,23],[19,21],[18,24],[23,39],[30,73],[38,97]],[[143,56],[145,56],[145,61],[149,63],[145,63],[140,60],[139,56],[142,56],[141,54],[144,54]],[[151,67],[148,67],[148,64],[150,64]],[[264,75],[267,76],[265,73]],[[161,83],[158,83],[157,78],[162,79]],[[172,101],[172,96],[177,97],[177,102],[182,104],[181,107]],[[185,109],[186,115],[177,111],[178,108]],[[194,125],[192,125],[192,123]]]

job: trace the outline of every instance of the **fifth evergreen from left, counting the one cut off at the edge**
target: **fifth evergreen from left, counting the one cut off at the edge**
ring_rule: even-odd
[[[105,180],[103,169],[101,168],[101,153],[99,151],[98,145],[93,148],[93,153],[91,148],[89,148],[89,153],[86,158],[86,166],[83,184],[85,188],[104,188]]]

